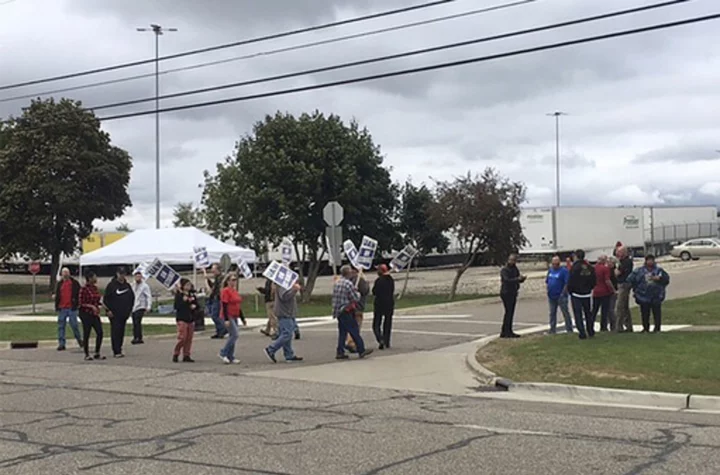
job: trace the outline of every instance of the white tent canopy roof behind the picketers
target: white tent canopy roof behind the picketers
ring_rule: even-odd
[[[192,264],[194,249],[207,249],[211,263],[220,262],[223,254],[233,261],[242,258],[255,262],[255,251],[232,246],[205,234],[197,228],[141,229],[96,251],[80,256],[81,266],[139,264],[159,258],[166,264]]]

